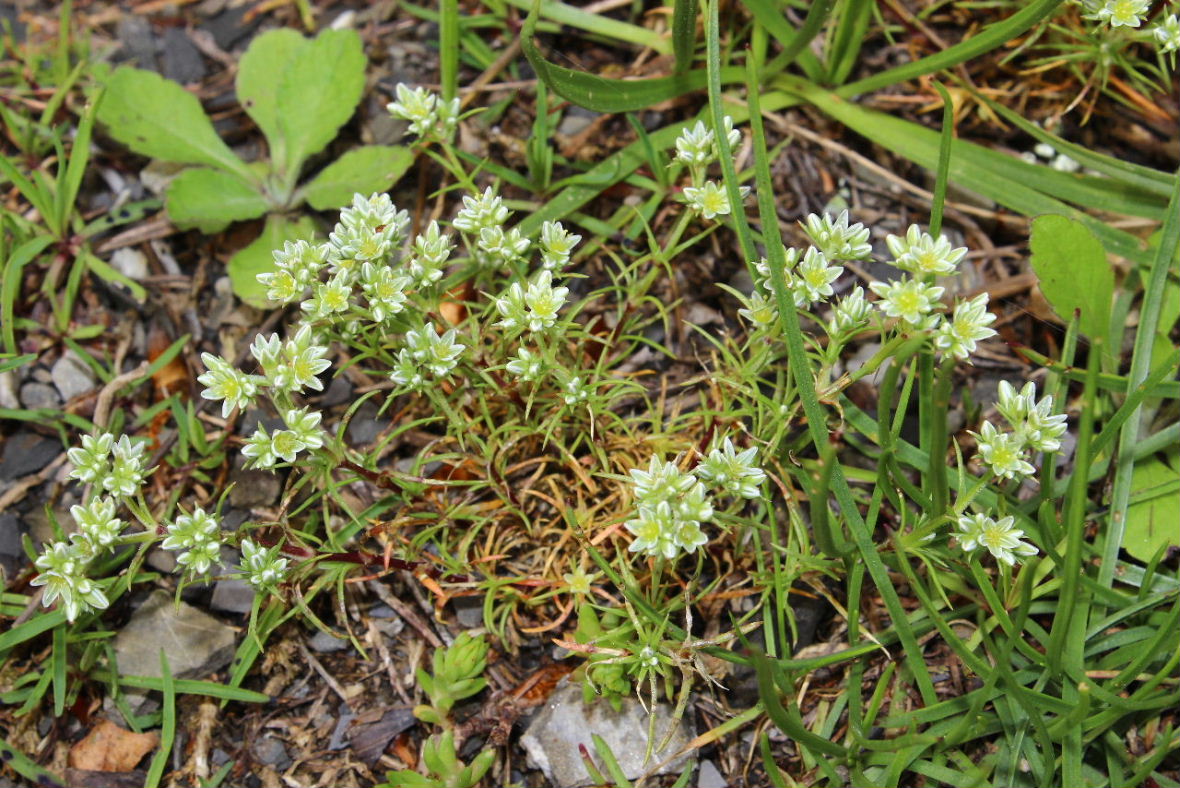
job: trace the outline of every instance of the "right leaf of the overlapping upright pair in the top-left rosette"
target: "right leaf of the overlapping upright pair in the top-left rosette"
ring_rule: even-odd
[[[275,110],[287,146],[284,176],[289,180],[353,117],[365,88],[365,64],[355,31],[324,31],[288,63]]]

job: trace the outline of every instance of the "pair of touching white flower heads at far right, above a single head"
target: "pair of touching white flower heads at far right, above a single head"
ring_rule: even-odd
[[[972,432],[978,444],[978,457],[991,473],[1002,479],[1022,479],[1036,472],[1028,461],[1029,452],[1055,452],[1061,448],[1066,432],[1066,415],[1053,414],[1053,398],[1036,399],[1036,388],[1025,383],[1017,392],[1008,381],[999,383],[996,409],[1010,431],[1001,431],[984,421],[979,432]]]

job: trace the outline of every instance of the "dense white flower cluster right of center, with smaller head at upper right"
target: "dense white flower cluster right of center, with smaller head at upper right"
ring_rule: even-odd
[[[624,523],[631,552],[675,558],[708,541],[702,524],[713,518],[713,498],[704,482],[734,498],[756,498],[766,474],[754,465],[755,448],[738,452],[726,438],[691,473],[675,462],[651,458],[647,471],[631,471],[636,516]]]

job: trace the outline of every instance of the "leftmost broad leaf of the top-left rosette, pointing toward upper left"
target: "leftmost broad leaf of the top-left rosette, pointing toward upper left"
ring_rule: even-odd
[[[192,93],[159,74],[120,66],[106,85],[98,119],[107,132],[136,153],[205,164],[254,180],[214,130]]]

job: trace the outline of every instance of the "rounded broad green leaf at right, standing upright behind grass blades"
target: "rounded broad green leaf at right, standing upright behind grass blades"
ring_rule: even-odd
[[[1080,222],[1049,215],[1032,221],[1029,247],[1041,291],[1057,316],[1068,323],[1076,310],[1082,334],[1106,339],[1114,269],[1102,243]]]

